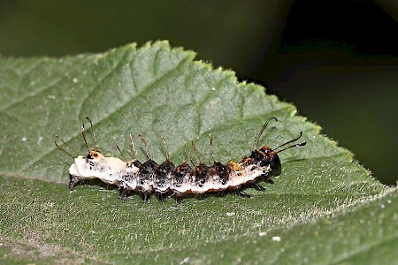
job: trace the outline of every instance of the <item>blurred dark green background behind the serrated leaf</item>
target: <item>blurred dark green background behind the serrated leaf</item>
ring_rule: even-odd
[[[394,185],[397,19],[396,0],[0,1],[0,54],[61,57],[169,40],[295,103]]]

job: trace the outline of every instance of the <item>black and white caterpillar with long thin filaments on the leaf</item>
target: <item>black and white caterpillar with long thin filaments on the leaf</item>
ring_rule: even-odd
[[[149,198],[152,195],[155,195],[158,201],[165,201],[168,197],[174,197],[176,201],[182,201],[183,198],[188,196],[228,192],[238,194],[242,197],[250,197],[248,193],[245,193],[245,188],[252,187],[258,191],[264,191],[264,187],[259,182],[265,181],[273,184],[272,177],[280,174],[282,167],[279,160],[279,153],[289,148],[306,145],[306,142],[302,142],[287,146],[302,137],[302,132],[300,132],[297,138],[288,140],[277,148],[272,149],[268,146],[256,148],[267,125],[272,119],[277,121],[276,117],[270,117],[264,123],[260,132],[256,134],[251,154],[243,157],[237,163],[233,161],[229,161],[226,164],[216,162],[212,151],[212,138],[210,138],[213,164],[208,166],[202,163],[199,157],[199,164],[191,167],[188,164],[188,144],[186,142],[185,162],[176,166],[170,160],[165,139],[161,136],[167,151],[167,158],[164,163],[157,164],[152,159],[148,145],[142,135],[139,135],[139,137],[147,149],[148,160],[144,163],[135,158],[127,161],[119,146],[117,146],[125,159],[123,161],[117,157],[106,157],[101,154],[96,145],[96,134],[94,133],[93,123],[88,116],[86,116],[86,119],[88,119],[91,125],[91,133],[94,139],[94,148],[88,148],[88,142],[85,137],[85,126],[82,123],[80,125],[80,133],[88,149],[88,155],[79,155],[72,146],[56,135],[57,140],[60,140],[77,155],[76,158],[73,158],[73,155],[55,141],[57,148],[60,148],[74,159],[73,164],[69,168],[69,189],[73,191],[74,186],[83,183],[85,180],[99,179],[105,184],[117,186],[120,200],[126,200],[126,197],[131,193],[139,193],[144,202],[149,202]],[[131,134],[130,139],[135,152]],[[191,144],[195,149],[195,153],[198,154],[194,142],[191,142]]]

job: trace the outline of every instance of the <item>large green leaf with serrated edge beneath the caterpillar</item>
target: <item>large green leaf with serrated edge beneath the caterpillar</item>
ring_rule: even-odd
[[[394,262],[396,190],[295,116],[293,105],[194,57],[155,42],[99,55],[0,58],[4,261],[373,263],[366,257],[383,254]],[[158,163],[166,156],[160,135],[175,163],[184,161],[185,140],[210,161],[210,135],[219,161],[239,160],[268,117],[278,122],[261,145],[276,147],[302,131],[307,146],[281,153],[275,185],[248,189],[250,199],[118,201],[116,190],[67,189],[73,161],[55,147],[54,134],[84,155],[84,115],[104,155],[121,156],[116,144],[126,152],[129,133],[142,133]],[[144,148],[135,145],[144,161]],[[191,148],[188,156],[195,161]]]

